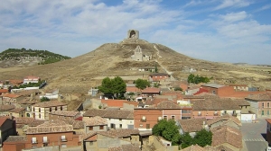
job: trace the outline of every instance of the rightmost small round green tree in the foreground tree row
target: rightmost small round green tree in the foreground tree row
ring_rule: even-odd
[[[212,133],[210,131],[207,131],[206,129],[201,129],[201,131],[198,131],[196,133],[196,136],[194,137],[195,144],[198,144],[201,147],[205,147],[207,145],[211,145],[211,138]]]

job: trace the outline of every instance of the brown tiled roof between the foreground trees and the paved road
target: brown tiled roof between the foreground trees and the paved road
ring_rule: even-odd
[[[242,133],[239,129],[229,126],[221,126],[210,129],[212,132],[212,147],[219,147],[224,143],[229,143],[231,146],[242,148]]]

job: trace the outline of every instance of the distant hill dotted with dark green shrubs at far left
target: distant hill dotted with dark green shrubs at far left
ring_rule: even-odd
[[[69,58],[48,50],[6,49],[0,53],[0,67],[30,67]]]

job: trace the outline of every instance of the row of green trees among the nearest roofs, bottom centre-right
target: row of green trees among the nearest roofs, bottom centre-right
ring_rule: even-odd
[[[194,138],[192,138],[189,133],[181,135],[179,127],[176,125],[174,120],[160,120],[154,125],[153,134],[172,141],[173,146],[181,146],[182,148],[196,144],[201,147],[205,147],[207,145],[210,146],[212,138],[212,133],[206,129],[198,131]]]

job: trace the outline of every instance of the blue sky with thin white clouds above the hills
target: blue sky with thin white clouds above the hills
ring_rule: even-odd
[[[192,58],[271,65],[271,0],[0,2],[0,51],[46,49],[74,58],[133,29]]]

